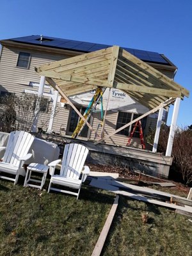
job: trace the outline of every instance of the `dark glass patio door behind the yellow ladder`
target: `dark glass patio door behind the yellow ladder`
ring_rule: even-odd
[[[81,115],[84,114],[84,111],[86,110],[86,108],[77,108],[79,110],[79,112],[81,113]],[[81,120],[81,117],[79,115],[77,115],[76,111],[74,111],[74,109],[70,110],[70,116],[68,118],[68,131],[67,134],[71,135],[76,127],[77,124],[79,123],[79,121]],[[81,131],[80,136],[86,138],[88,136],[88,126],[84,125],[83,127],[83,131]]]

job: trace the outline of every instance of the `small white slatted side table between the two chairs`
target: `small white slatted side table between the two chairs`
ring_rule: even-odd
[[[37,163],[29,164],[29,166],[27,167],[26,179],[24,181],[24,187],[33,187],[33,188],[42,189],[45,184],[45,179],[47,177],[48,169],[49,169],[49,166],[44,165],[44,164],[37,164]],[[31,179],[32,172],[42,173],[43,174],[42,180]],[[35,184],[31,184],[31,183],[29,183],[30,181],[40,183],[40,185],[38,186]]]

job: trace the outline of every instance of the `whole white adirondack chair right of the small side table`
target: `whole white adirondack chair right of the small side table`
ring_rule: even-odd
[[[90,173],[90,168],[88,166],[83,166],[86,156],[88,155],[88,151],[88,148],[77,143],[65,145],[60,175],[55,175],[54,170],[56,164],[60,163],[61,159],[48,164],[48,166],[50,166],[49,173],[51,174],[48,193],[50,190],[60,191],[63,193],[76,195],[78,199],[81,184],[84,182],[84,180],[86,180],[87,175]],[[81,171],[83,171],[83,175],[81,179],[79,179]],[[52,185],[60,185],[71,189],[77,189],[77,193],[74,191],[52,188]]]

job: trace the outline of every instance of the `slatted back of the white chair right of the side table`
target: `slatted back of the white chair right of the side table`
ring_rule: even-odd
[[[60,175],[79,179],[88,152],[88,148],[77,143],[65,145]]]

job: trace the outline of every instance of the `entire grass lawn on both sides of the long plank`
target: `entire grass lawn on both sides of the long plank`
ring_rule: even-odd
[[[76,200],[0,180],[0,255],[92,255],[113,200],[88,186]],[[191,256],[191,222],[164,207],[120,196],[102,255]]]

